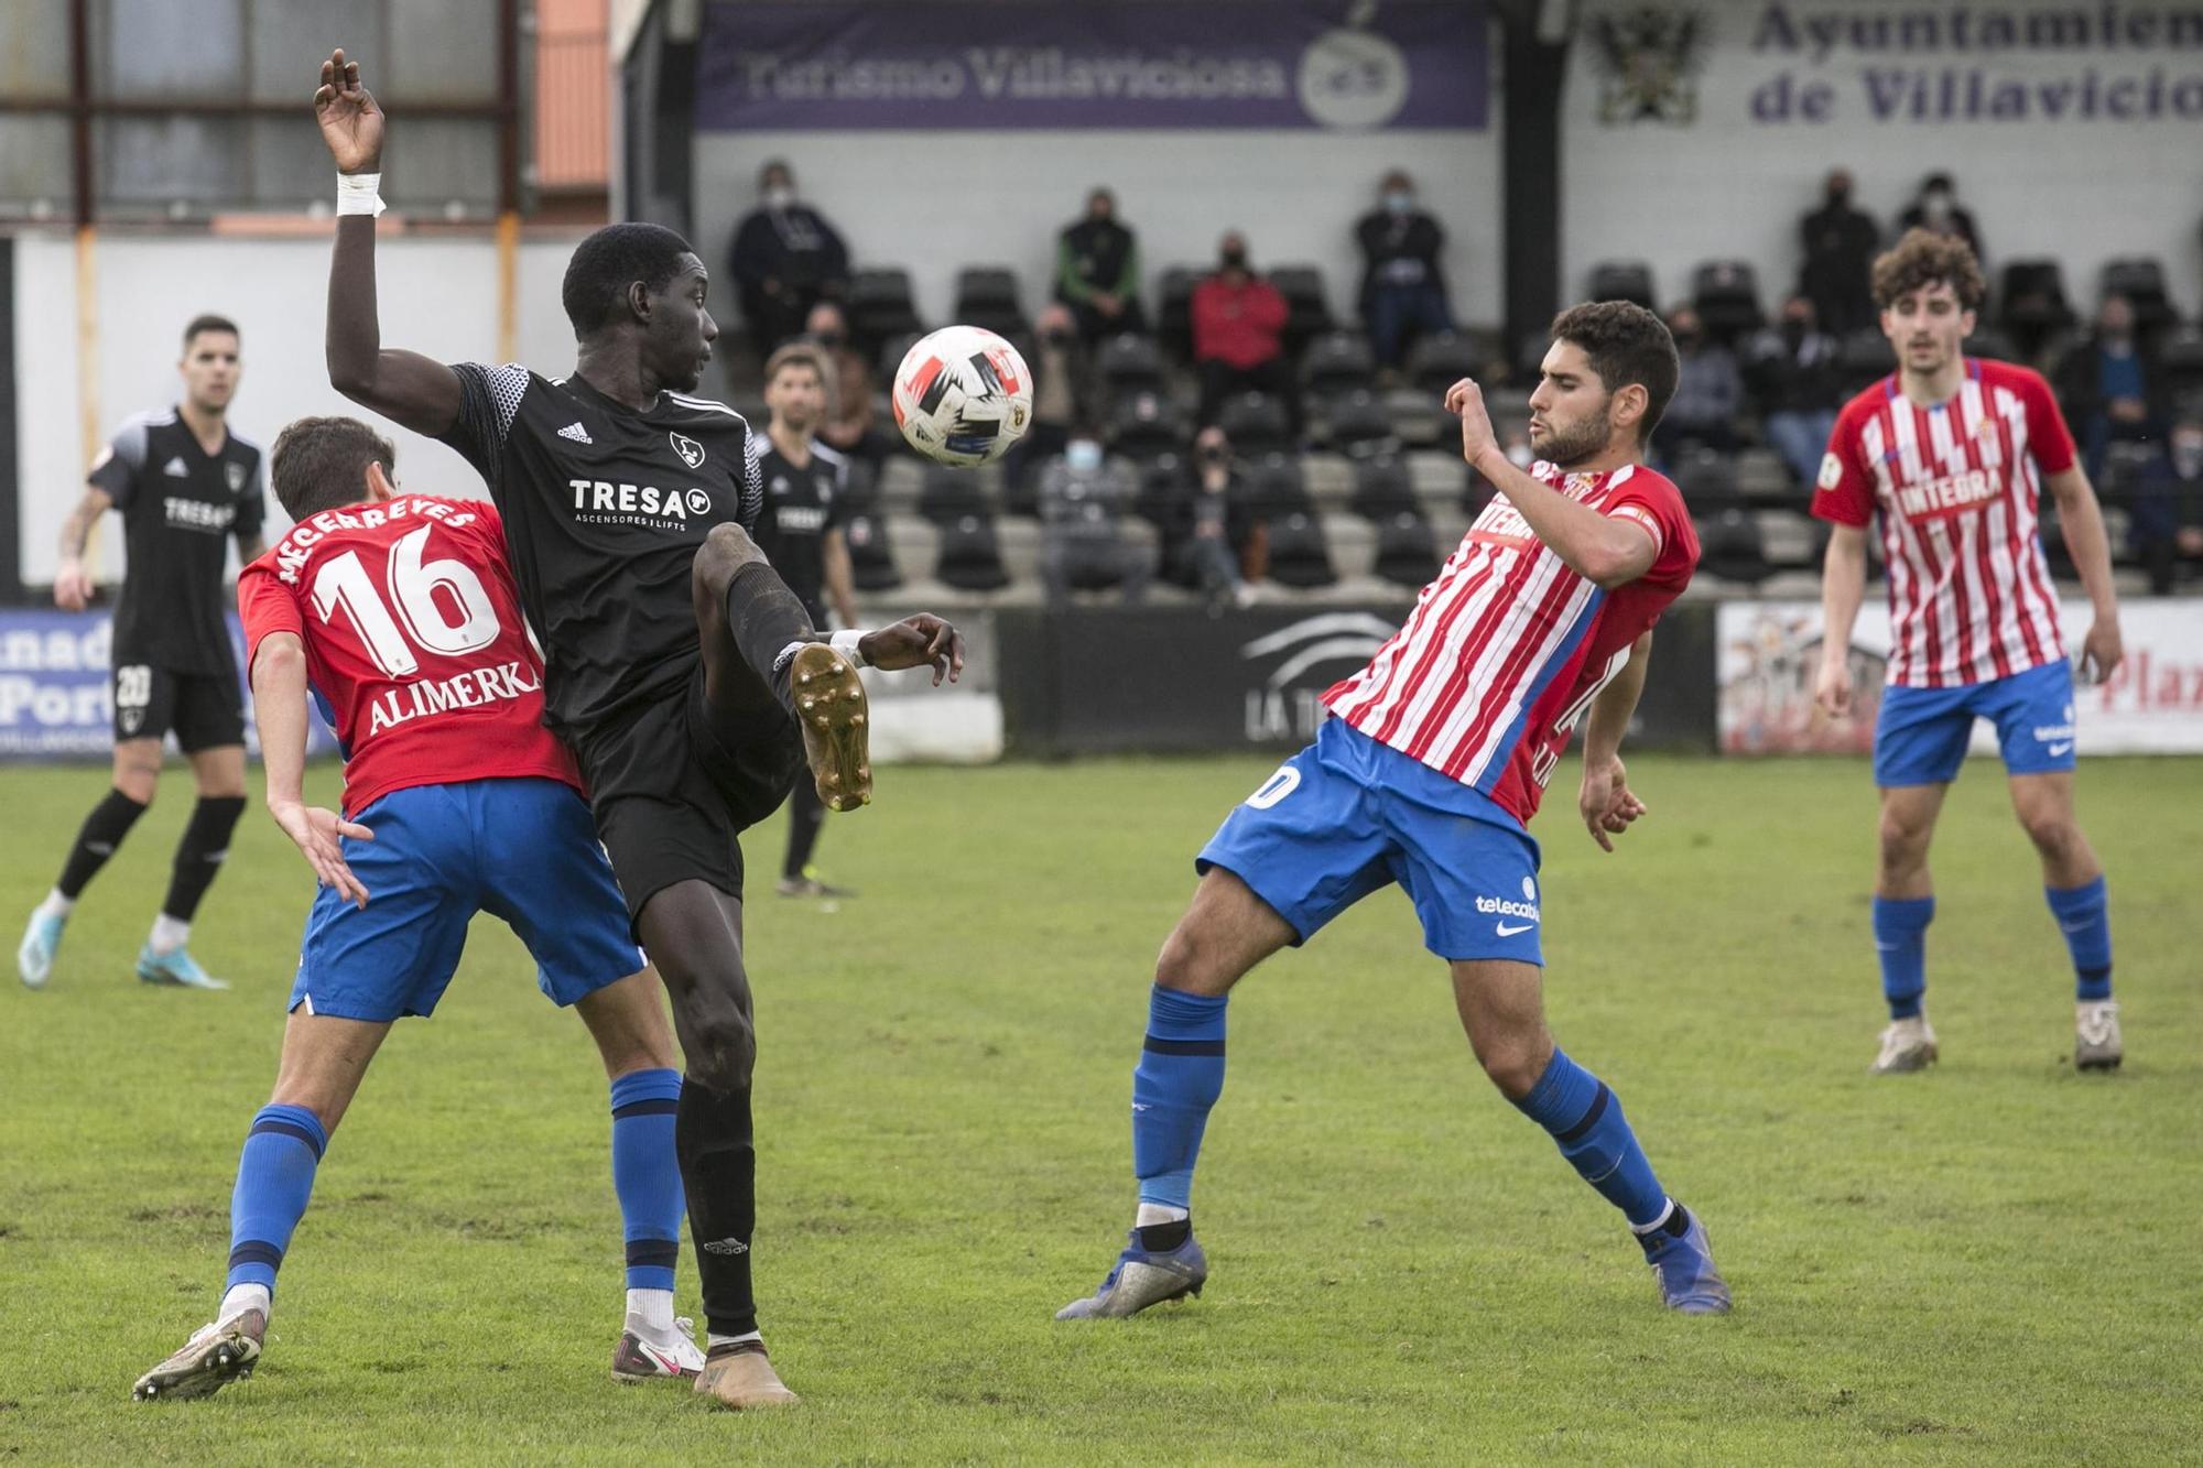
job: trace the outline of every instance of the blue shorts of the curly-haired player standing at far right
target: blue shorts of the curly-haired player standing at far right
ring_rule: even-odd
[[[1884,688],[1875,719],[1875,785],[1956,780],[1976,719],[1996,725],[2007,774],[2073,769],[2073,666],[2058,659],[1958,688]]]

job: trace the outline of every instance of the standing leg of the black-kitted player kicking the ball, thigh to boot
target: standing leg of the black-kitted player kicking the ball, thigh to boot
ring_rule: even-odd
[[[687,1060],[674,1148],[709,1331],[696,1391],[736,1411],[791,1406],[797,1397],[764,1353],[749,1278],[758,1221],[749,1082],[758,1047],[742,970],[742,902],[709,882],[676,882],[650,897],[637,928],[672,994]]]

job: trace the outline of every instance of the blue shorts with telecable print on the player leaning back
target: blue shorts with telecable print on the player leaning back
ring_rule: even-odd
[[[1223,866],[1295,946],[1399,882],[1441,959],[1544,963],[1538,842],[1489,796],[1342,719],[1225,816],[1194,871]]]

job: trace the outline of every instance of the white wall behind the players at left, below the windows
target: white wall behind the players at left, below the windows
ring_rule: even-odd
[[[573,236],[579,238],[579,236]],[[520,361],[562,377],[573,368],[573,331],[560,278],[573,238],[520,247]],[[498,348],[498,267],[487,238],[386,238],[377,247],[383,342],[443,357],[487,359]],[[97,421],[101,436],[121,419],[176,401],[183,324],[200,311],[238,322],[245,379],[231,423],[264,450],[291,419],[352,412],[392,434],[399,478],[423,494],[478,496],[482,481],[456,452],[352,408],[328,388],[322,315],[328,238],[240,240],[220,236],[106,236],[95,256]],[[22,485],[22,580],[53,580],[62,520],[84,492],[82,399],[77,392],[75,245],[57,234],[15,240],[15,434]],[[269,498],[269,536],[286,525]],[[121,536],[99,536],[104,578],[121,569]]]

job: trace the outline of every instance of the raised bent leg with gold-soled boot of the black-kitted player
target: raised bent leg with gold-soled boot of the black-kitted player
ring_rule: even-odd
[[[857,666],[820,637],[738,525],[714,527],[696,551],[694,597],[714,723],[740,730],[784,710],[826,809],[870,805],[872,730]]]

